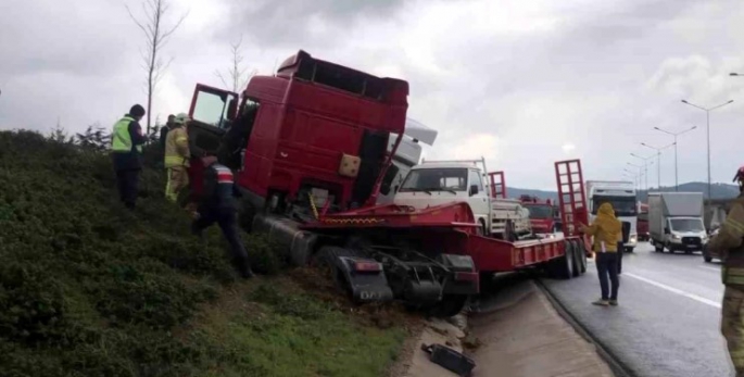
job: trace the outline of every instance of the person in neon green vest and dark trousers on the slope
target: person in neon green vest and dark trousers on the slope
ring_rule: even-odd
[[[128,209],[134,210],[137,202],[137,186],[142,171],[142,144],[144,136],[139,121],[144,116],[144,108],[135,104],[124,115],[111,134],[111,152],[116,171],[119,199]]]

